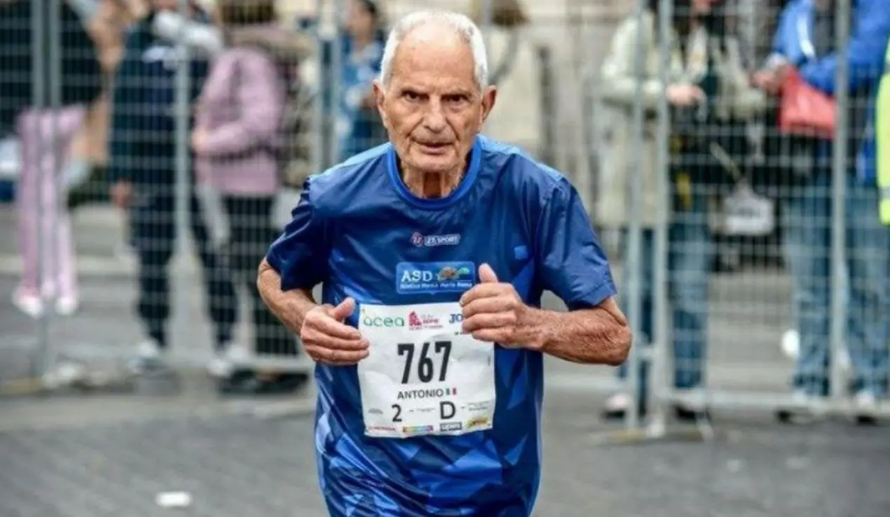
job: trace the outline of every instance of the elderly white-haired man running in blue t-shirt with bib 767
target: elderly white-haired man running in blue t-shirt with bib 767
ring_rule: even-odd
[[[260,266],[264,300],[318,362],[336,517],[529,515],[543,354],[627,357],[578,193],[479,134],[496,98],[485,56],[465,16],[402,19],[374,86],[391,143],[306,182]],[[545,290],[569,311],[538,309]]]

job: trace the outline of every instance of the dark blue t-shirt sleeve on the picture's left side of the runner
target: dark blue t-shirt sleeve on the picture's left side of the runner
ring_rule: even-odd
[[[311,183],[305,183],[291,221],[266,253],[266,262],[281,277],[282,291],[312,289],[328,274],[330,239],[326,223],[312,203]]]

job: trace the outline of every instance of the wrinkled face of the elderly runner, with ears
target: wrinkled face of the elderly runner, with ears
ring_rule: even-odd
[[[374,91],[402,166],[430,174],[463,171],[496,98],[494,87],[476,83],[470,45],[434,25],[405,37],[389,85],[375,83]]]

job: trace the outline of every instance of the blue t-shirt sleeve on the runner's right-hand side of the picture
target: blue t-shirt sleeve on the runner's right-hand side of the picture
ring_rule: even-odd
[[[538,220],[538,274],[546,290],[570,311],[588,309],[616,294],[609,262],[578,192],[562,180]]]

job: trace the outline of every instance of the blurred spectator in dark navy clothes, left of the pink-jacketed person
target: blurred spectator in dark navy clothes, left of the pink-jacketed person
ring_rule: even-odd
[[[129,209],[130,236],[139,258],[139,314],[148,339],[139,346],[137,371],[160,364],[166,350],[169,316],[167,264],[174,252],[175,226],[175,77],[180,66],[190,72],[190,99],[198,97],[207,62],[183,63],[177,47],[153,32],[159,14],[178,7],[177,0],[152,0],[147,17],[127,36],[117,69],[109,146],[111,198]],[[208,19],[196,5],[194,20]],[[193,192],[193,190],[192,190]],[[189,199],[191,232],[204,268],[206,302],[214,321],[214,346],[225,350],[235,321],[235,291],[223,262],[214,254],[198,199]]]

